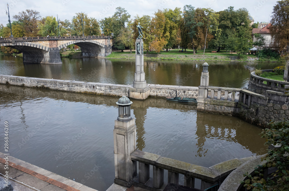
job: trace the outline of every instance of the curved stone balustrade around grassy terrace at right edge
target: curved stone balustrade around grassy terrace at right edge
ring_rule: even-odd
[[[262,70],[263,72],[273,72],[274,70]],[[256,93],[265,95],[266,90],[284,92],[285,85],[289,85],[289,82],[271,80],[268,78],[262,78],[257,76],[255,72],[251,72],[249,81],[249,90]]]

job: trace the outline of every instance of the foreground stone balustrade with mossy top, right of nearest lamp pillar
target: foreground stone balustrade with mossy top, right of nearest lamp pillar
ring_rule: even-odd
[[[168,183],[195,188],[195,179],[200,179],[202,190],[217,190],[232,171],[251,158],[231,159],[207,168],[136,150],[131,153],[131,160],[138,162],[138,175],[133,185],[146,190],[162,190]],[[150,166],[153,166],[152,177]],[[168,171],[167,182],[164,181],[164,170]],[[179,182],[180,175],[184,175],[183,182]]]

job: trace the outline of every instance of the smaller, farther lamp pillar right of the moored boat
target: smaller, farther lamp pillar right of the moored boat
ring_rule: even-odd
[[[201,75],[201,85],[199,86],[199,97],[198,97],[198,110],[203,111],[205,109],[205,98],[208,97],[208,89],[206,87],[209,86],[209,71],[208,71],[208,63],[203,64],[203,71]]]

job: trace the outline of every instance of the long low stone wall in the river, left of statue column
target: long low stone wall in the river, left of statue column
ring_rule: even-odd
[[[104,83],[79,82],[69,80],[54,80],[45,78],[30,78],[21,76],[0,75],[1,84],[36,87],[43,89],[62,90],[78,93],[129,97],[128,85],[112,85]]]

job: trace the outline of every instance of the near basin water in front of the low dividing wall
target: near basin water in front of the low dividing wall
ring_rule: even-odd
[[[0,85],[0,121],[9,119],[11,155],[97,190],[114,180],[113,128],[116,97]],[[195,105],[149,98],[132,100],[137,148],[162,156],[212,166],[233,158],[255,156],[264,148],[262,130],[236,117],[196,111]],[[19,148],[22,138],[49,116]],[[9,123],[10,123],[9,121]],[[87,131],[79,135],[81,128]],[[74,142],[73,137],[77,136]],[[3,134],[0,134],[0,139]],[[60,151],[73,145],[60,156]],[[264,152],[263,152],[264,153]],[[57,157],[57,160],[55,156]],[[95,166],[99,170],[87,179]]]

